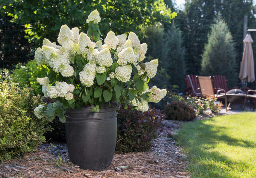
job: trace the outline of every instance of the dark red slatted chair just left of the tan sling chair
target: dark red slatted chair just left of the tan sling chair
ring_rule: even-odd
[[[184,90],[185,92],[187,92],[188,95],[191,95],[192,97],[201,96],[195,75],[193,74],[187,75],[184,81],[186,82],[186,85],[187,85],[187,88]]]

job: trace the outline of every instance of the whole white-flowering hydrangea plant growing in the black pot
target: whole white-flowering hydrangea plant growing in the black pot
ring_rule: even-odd
[[[110,31],[103,43],[100,38],[97,10],[86,22],[87,34],[77,27],[62,25],[58,44],[43,40],[35,53],[38,65],[48,69],[47,77],[37,78],[45,97],[56,100],[47,107],[35,109],[38,118],[52,121],[56,115],[65,122],[67,107],[93,106],[99,111],[104,103],[131,105],[139,111],[148,110],[148,102],[159,102],[166,89],[151,89],[147,84],[156,75],[158,60],[143,63],[147,51],[133,32],[116,35]]]

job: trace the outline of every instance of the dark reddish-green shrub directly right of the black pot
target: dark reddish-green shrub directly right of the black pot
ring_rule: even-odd
[[[150,108],[146,112],[124,109],[122,106],[117,113],[118,133],[116,152],[145,152],[161,131],[165,115],[160,110]]]

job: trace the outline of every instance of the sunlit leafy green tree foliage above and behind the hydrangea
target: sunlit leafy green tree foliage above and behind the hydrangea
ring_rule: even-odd
[[[102,17],[100,29],[118,34],[133,31],[154,22],[170,22],[175,16],[163,0],[0,0],[0,13],[25,25],[25,32],[35,47],[44,38],[55,41],[61,25],[87,31],[86,19],[97,9]]]

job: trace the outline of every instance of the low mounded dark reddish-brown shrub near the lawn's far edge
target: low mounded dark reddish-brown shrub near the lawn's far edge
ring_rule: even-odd
[[[191,121],[195,119],[195,110],[185,101],[171,101],[165,106],[165,115],[168,120]]]

